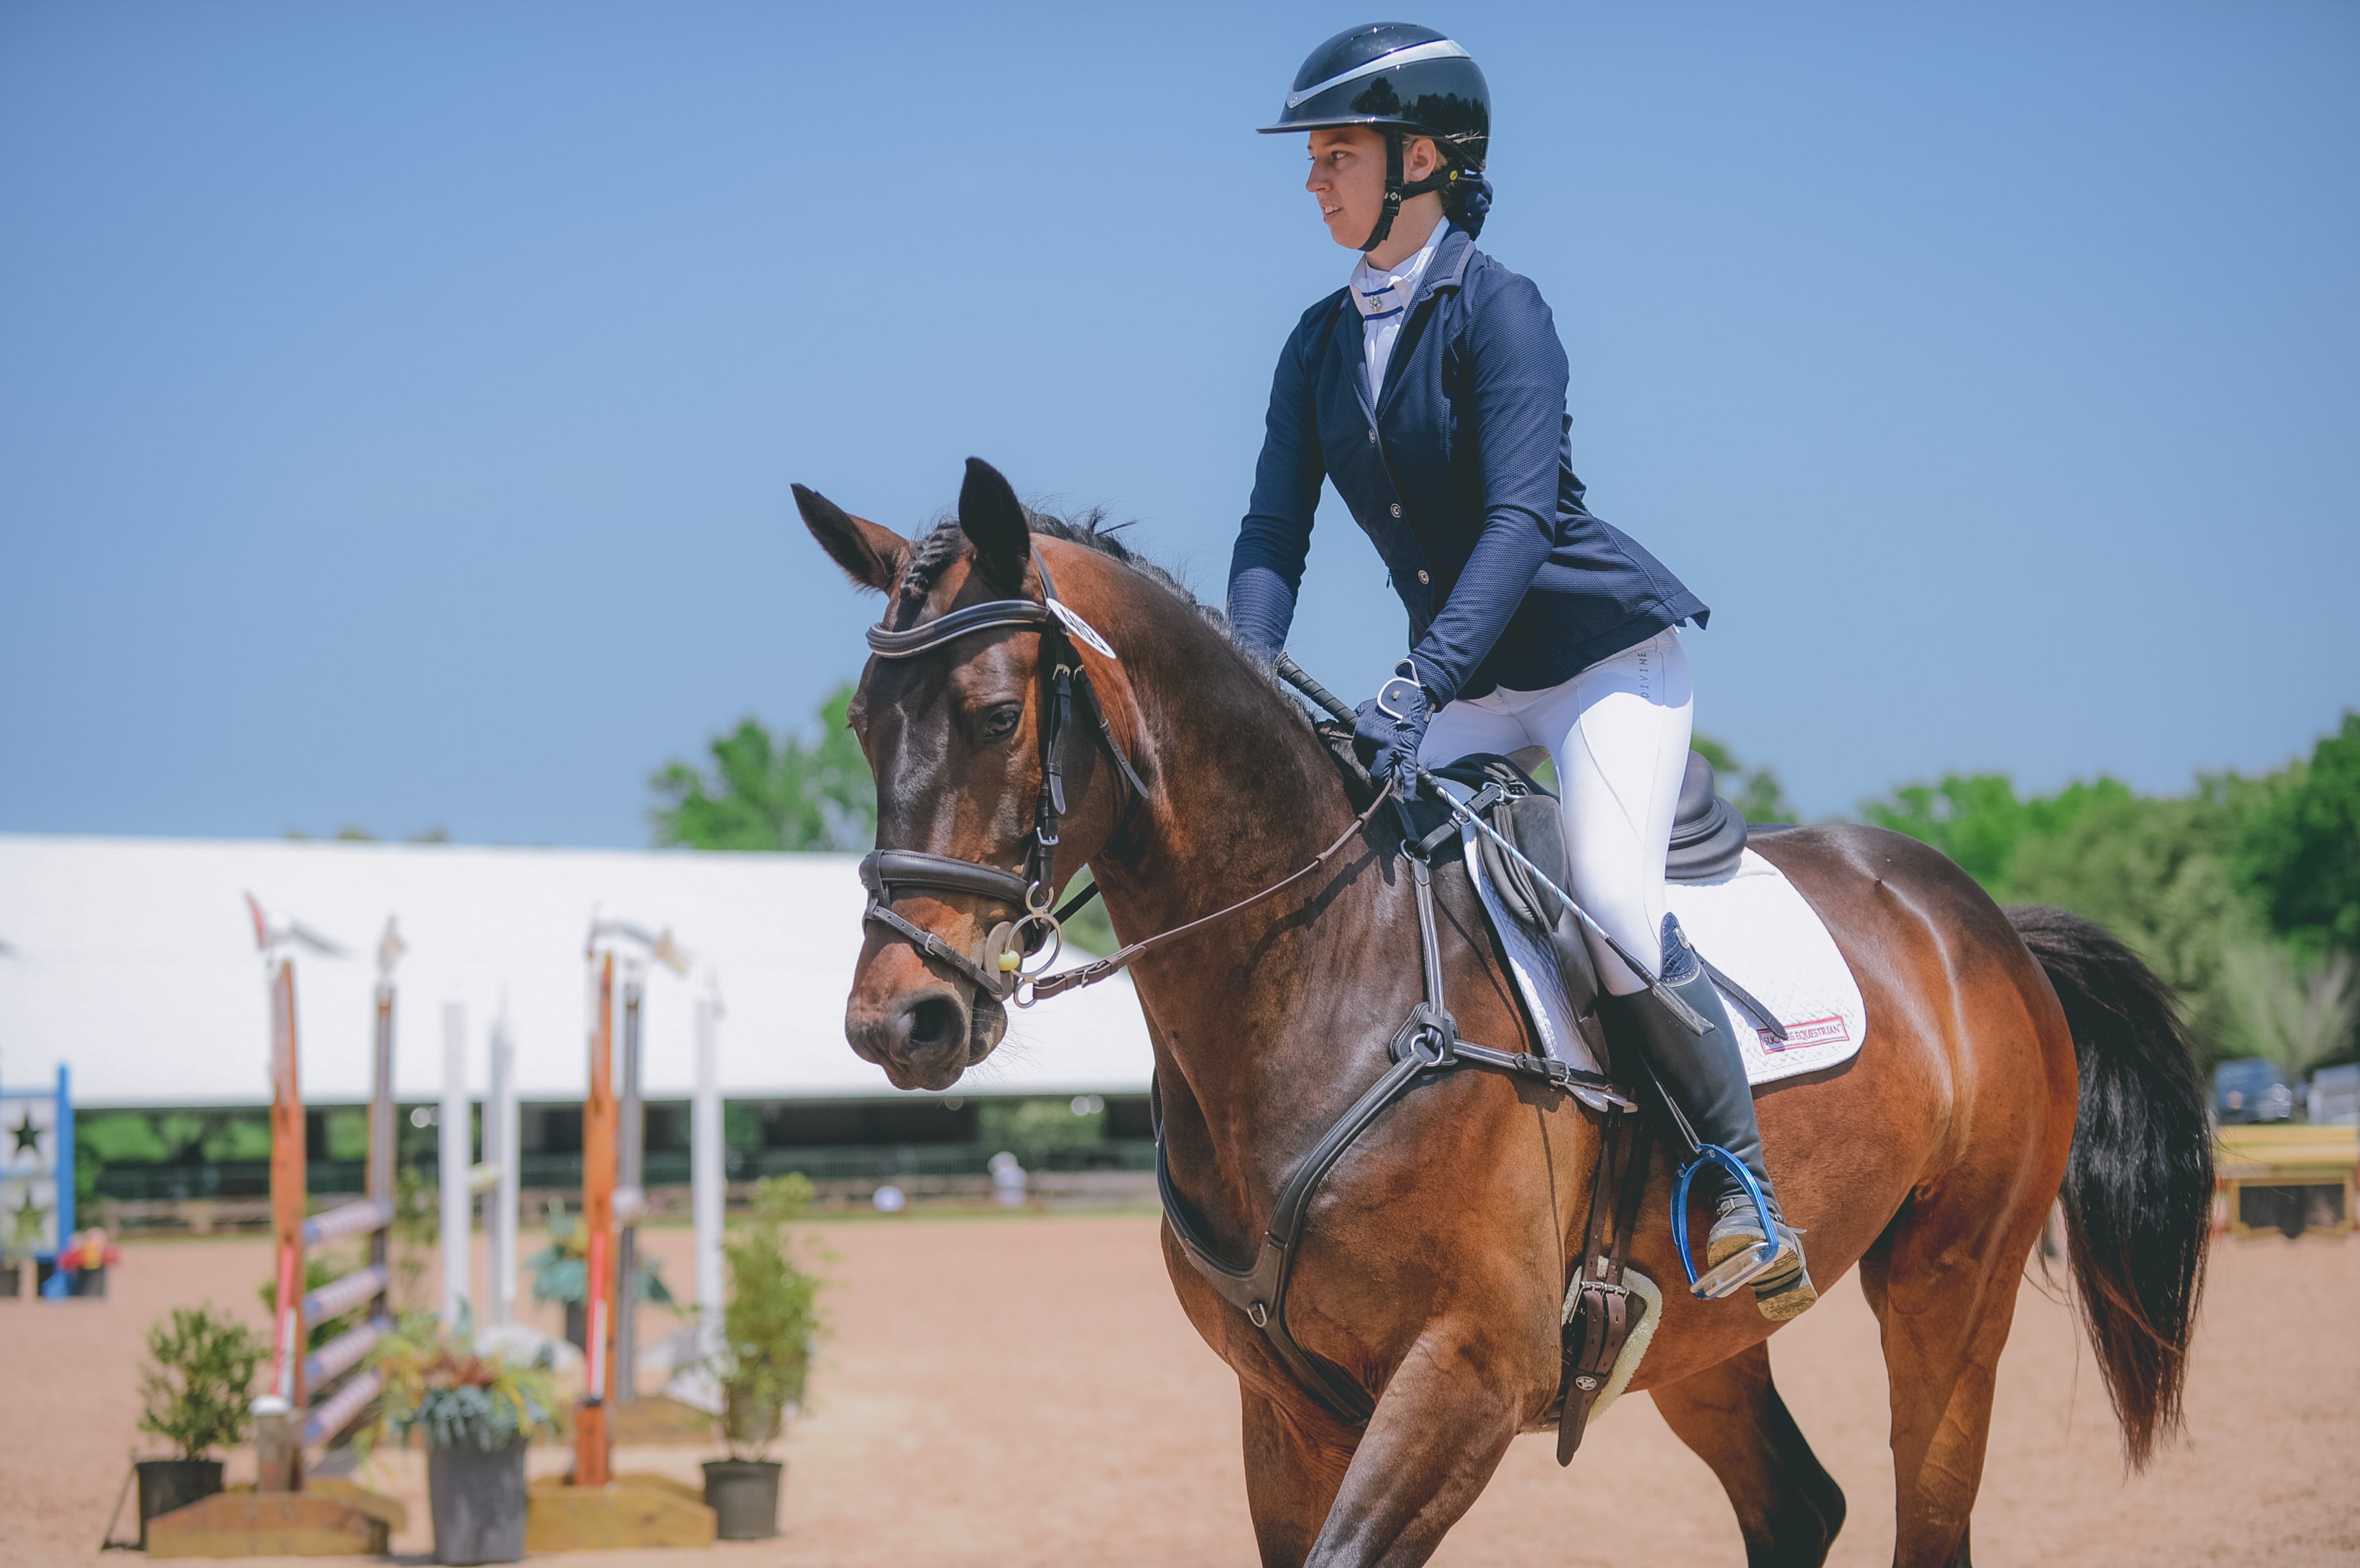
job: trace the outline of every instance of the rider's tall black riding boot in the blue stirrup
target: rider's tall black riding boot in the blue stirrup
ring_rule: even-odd
[[[1607,1026],[1617,1042],[1628,1040],[1654,1068],[1657,1082],[1687,1118],[1699,1144],[1718,1144],[1737,1155],[1737,1162],[1761,1184],[1770,1200],[1770,1217],[1777,1231],[1777,1257],[1753,1278],[1753,1302],[1772,1323],[1798,1316],[1820,1292],[1810,1283],[1810,1266],[1803,1261],[1803,1238],[1787,1224],[1777,1207],[1777,1191],[1770,1186],[1770,1170],[1763,1165],[1761,1125],[1753,1120],[1753,1089],[1746,1085],[1746,1063],[1737,1049],[1737,1026],[1730,1023],[1720,993],[1704,974],[1704,962],[1687,943],[1680,922],[1664,915],[1664,988],[1687,1002],[1711,1023],[1711,1033],[1697,1035],[1654,993],[1640,990],[1628,997],[1605,997]],[[1739,1252],[1761,1247],[1761,1212],[1744,1186],[1728,1172],[1706,1167],[1699,1177],[1713,1203],[1713,1231],[1704,1243],[1706,1269],[1716,1269]]]

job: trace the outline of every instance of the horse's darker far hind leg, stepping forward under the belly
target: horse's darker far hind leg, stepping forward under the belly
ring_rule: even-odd
[[[1654,1389],[1664,1424],[1720,1476],[1751,1568],[1820,1568],[1843,1528],[1843,1488],[1820,1467],[1770,1382],[1770,1346]]]

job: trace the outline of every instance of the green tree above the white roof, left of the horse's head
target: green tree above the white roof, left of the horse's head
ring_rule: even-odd
[[[876,842],[876,785],[852,738],[852,686],[819,710],[819,738],[743,719],[710,743],[713,766],[668,762],[649,788],[658,844],[689,849],[866,849]]]

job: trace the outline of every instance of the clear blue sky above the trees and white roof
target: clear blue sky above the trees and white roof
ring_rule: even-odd
[[[2360,9],[1430,5],[1595,509],[1810,813],[2360,703]],[[0,9],[0,830],[647,842],[979,453],[1220,594],[1331,5]],[[1399,651],[1329,500],[1296,651]]]

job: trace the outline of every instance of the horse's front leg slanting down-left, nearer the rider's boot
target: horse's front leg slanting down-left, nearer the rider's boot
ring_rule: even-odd
[[[1555,1372],[1555,1363],[1546,1368]],[[1437,1320],[1385,1384],[1305,1568],[1423,1563],[1482,1495],[1532,1405],[1529,1344],[1482,1320]],[[1251,1450],[1251,1436],[1248,1436]],[[1265,1561],[1272,1559],[1265,1547]]]

